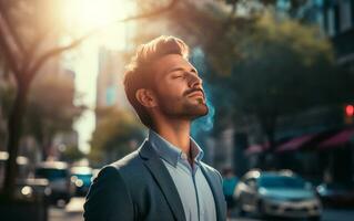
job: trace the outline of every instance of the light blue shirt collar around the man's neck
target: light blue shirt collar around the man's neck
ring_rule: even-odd
[[[199,164],[203,158],[204,152],[192,137],[190,137],[190,139],[192,157],[194,162]],[[180,148],[169,143],[152,129],[149,130],[148,140],[161,158],[166,160],[170,165],[176,167],[178,161],[182,158],[183,154]]]

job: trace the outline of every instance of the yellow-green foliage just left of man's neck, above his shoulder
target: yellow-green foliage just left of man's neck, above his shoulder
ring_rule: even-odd
[[[104,107],[97,109],[97,114],[98,122],[92,135],[89,156],[91,160],[121,158],[134,150],[142,141],[143,127],[131,112]]]

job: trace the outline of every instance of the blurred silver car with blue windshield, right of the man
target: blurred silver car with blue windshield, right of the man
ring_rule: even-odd
[[[291,171],[249,171],[234,197],[241,215],[321,220],[322,204],[314,188]]]

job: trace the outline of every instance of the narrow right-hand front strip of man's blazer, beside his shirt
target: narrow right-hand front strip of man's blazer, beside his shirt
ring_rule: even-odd
[[[224,194],[223,192],[221,191],[220,188],[218,188],[219,183],[218,183],[218,180],[215,180],[211,172],[208,172],[206,168],[201,164],[201,168],[202,168],[202,171],[206,178],[206,181],[210,186],[210,189],[212,190],[213,192],[213,197],[214,197],[214,201],[215,201],[215,208],[216,208],[216,217],[218,217],[218,220],[219,221],[224,221],[226,220],[226,214],[225,214],[225,202],[224,202]]]

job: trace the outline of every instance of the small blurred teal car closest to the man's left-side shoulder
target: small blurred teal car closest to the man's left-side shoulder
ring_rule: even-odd
[[[71,182],[74,185],[77,196],[85,196],[91,186],[92,168],[90,167],[72,167]]]

